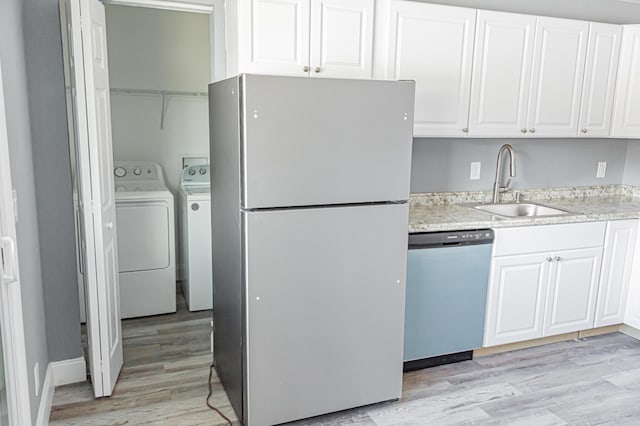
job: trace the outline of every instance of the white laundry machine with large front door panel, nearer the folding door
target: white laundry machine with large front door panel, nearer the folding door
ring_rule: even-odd
[[[153,161],[114,161],[122,318],[176,311],[173,194]]]

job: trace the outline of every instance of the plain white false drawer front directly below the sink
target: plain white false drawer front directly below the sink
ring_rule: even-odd
[[[604,244],[606,222],[495,229],[494,256],[537,253]]]

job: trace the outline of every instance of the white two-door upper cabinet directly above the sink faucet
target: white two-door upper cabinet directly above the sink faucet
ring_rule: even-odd
[[[576,136],[589,23],[478,12],[472,136]]]

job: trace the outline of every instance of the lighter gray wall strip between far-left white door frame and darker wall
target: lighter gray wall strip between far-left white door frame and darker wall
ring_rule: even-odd
[[[44,379],[49,359],[22,22],[22,1],[2,0],[0,2],[0,60],[7,100],[11,177],[18,193],[20,216],[16,224],[18,256],[22,283],[27,372],[30,377],[31,413],[35,421],[40,398],[34,396],[33,366],[36,362],[39,363],[40,377]],[[67,249],[68,247],[61,248],[61,250]],[[42,395],[42,392],[39,391],[38,394]]]

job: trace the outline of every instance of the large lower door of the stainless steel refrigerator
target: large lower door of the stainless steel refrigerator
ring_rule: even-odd
[[[396,399],[408,207],[243,213],[252,426]]]

